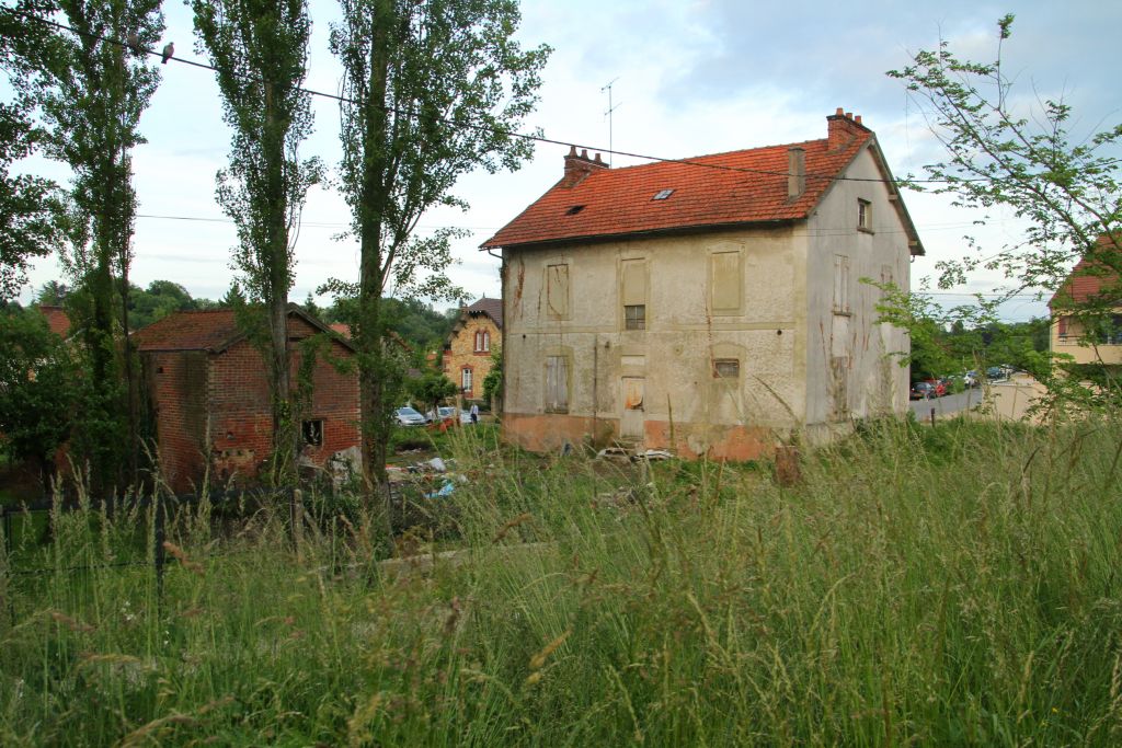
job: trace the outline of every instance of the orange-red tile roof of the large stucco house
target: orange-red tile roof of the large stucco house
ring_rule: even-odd
[[[482,247],[804,219],[874,138],[859,118],[828,119],[828,139],[698,156],[688,163],[594,168],[574,186],[562,179]],[[806,151],[807,181],[803,193],[789,200],[792,147]],[[673,193],[653,200],[663,190]]]

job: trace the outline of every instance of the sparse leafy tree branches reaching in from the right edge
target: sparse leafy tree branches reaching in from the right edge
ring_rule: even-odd
[[[1116,150],[1122,124],[1098,132],[1070,132],[1079,120],[1065,101],[1022,96],[1002,70],[1001,50],[1011,38],[1013,16],[997,21],[997,49],[992,63],[957,57],[946,41],[936,50],[916,54],[912,64],[889,75],[903,82],[925,110],[928,122],[947,151],[947,159],[928,165],[936,193],[954,196],[955,204],[991,210],[1003,207],[1027,223],[1023,238],[996,253],[975,253],[938,264],[944,287],[963,284],[978,268],[1000,270],[1012,283],[1009,293],[1046,288],[1059,293],[1054,315],[1082,323],[1087,343],[1094,343],[1109,323],[1116,334],[1122,306],[1122,191]],[[1023,77],[1023,76],[1021,76]],[[1033,105],[1036,102],[1036,105]],[[916,183],[913,188],[923,186]],[[928,187],[930,188],[930,187]],[[985,255],[983,257],[982,255]],[[1080,274],[1097,276],[1101,288],[1076,298],[1064,284],[1076,261]],[[1036,333],[1043,336],[1043,330]],[[1040,371],[1054,396],[1075,396],[1086,404],[1093,389],[1079,394],[1074,382],[1051,376],[1043,347],[1014,345],[1004,354],[1020,358]],[[1110,372],[1101,372],[1105,380]]]

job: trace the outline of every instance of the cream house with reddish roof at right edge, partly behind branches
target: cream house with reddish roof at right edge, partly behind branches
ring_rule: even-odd
[[[1097,244],[1097,251],[1113,251],[1109,237]],[[1116,271],[1102,261],[1080,259],[1048,301],[1048,310],[1054,353],[1070,355],[1077,364],[1122,364],[1122,279]],[[1088,321],[1097,322],[1098,334],[1087,334]]]

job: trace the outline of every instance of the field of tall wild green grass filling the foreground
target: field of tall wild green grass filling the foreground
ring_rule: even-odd
[[[59,512],[3,558],[0,742],[1122,740],[1116,419],[866,424],[794,488],[462,431],[469,482],[393,546],[357,500],[297,547],[203,504],[158,581],[122,563],[149,512]]]

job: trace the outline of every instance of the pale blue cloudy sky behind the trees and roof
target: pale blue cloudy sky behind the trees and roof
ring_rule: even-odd
[[[896,175],[920,174],[940,153],[917,102],[885,71],[902,67],[911,54],[934,48],[940,38],[964,57],[990,61],[996,20],[1005,12],[1017,13],[1017,21],[1004,64],[1027,104],[1033,96],[1063,95],[1075,108],[1077,133],[1122,120],[1115,65],[1103,56],[1122,30],[1120,2],[524,0],[522,8],[523,45],[545,43],[554,49],[541,103],[525,130],[541,128],[551,139],[590,150],[606,151],[610,137],[616,150],[681,158],[821,138],[826,116],[843,107],[862,114],[877,133]],[[166,13],[167,39],[176,43],[177,56],[205,62],[193,48],[187,8],[169,2]],[[306,86],[329,93],[339,83],[339,67],[328,53],[329,24],[335,17],[334,2],[312,0]],[[163,72],[141,120],[148,144],[135,151],[141,218],[132,278],[139,285],[166,278],[195,296],[217,298],[232,277],[233,227],[213,197],[229,131],[209,71],[171,63]],[[604,86],[613,81],[616,109],[609,136]],[[314,108],[316,131],[303,153],[333,165],[339,159],[338,109],[325,99]],[[498,295],[498,261],[477,247],[560,177],[567,150],[539,145],[533,160],[517,173],[469,175],[457,192],[471,210],[435,211],[422,220],[422,230],[457,225],[472,232],[457,244],[460,262],[451,270],[470,296]],[[616,156],[614,163],[642,161]],[[65,179],[56,165],[34,160],[26,166]],[[905,202],[928,252],[912,266],[913,284],[932,275],[936,261],[960,257],[964,234],[977,236],[987,252],[1018,239],[1019,225],[1009,216],[977,229],[972,224],[978,216],[944,198],[910,193]],[[347,207],[337,194],[313,192],[297,243],[294,299],[329,278],[357,278],[357,247],[333,239],[347,222]],[[36,266],[31,281],[38,286],[58,277],[57,265],[46,260]],[[968,290],[988,292],[999,283],[978,276]],[[937,298],[955,303],[962,297]],[[1010,320],[1045,312],[1042,303],[1028,297],[1002,310]]]

